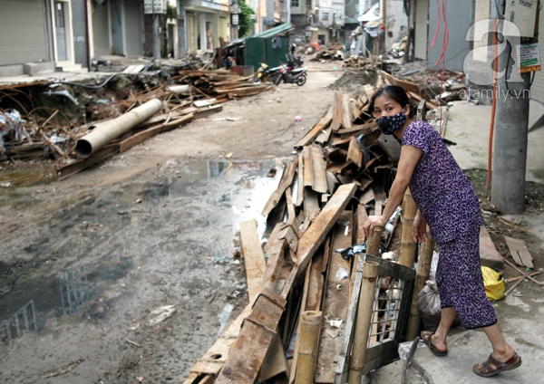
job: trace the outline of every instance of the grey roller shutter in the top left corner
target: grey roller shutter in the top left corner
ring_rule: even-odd
[[[43,0],[1,0],[0,65],[50,61]]]

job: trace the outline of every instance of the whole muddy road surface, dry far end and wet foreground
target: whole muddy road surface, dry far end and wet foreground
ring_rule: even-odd
[[[73,178],[2,188],[0,381],[186,379],[248,302],[238,223],[264,233],[282,164],[333,100],[333,66]],[[150,326],[164,305],[176,312]]]

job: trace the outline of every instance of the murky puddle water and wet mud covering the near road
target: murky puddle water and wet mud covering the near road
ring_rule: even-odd
[[[0,191],[0,381],[185,379],[218,313],[247,302],[233,239],[253,218],[263,234],[281,163],[173,159],[73,196],[54,183]],[[163,305],[177,312],[148,326]]]

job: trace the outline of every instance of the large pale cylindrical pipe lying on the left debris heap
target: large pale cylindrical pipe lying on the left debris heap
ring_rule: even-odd
[[[144,120],[148,120],[160,110],[162,102],[152,99],[130,112],[108,121],[91,126],[92,132],[78,139],[75,145],[75,154],[80,158],[88,158],[98,149],[108,144],[112,139],[119,138]]]

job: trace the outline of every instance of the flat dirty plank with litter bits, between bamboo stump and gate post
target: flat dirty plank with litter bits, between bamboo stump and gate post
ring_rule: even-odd
[[[345,223],[348,223],[345,226]],[[345,211],[335,223],[332,249],[348,248],[352,245],[353,213]],[[345,229],[349,230],[346,231]],[[346,233],[347,232],[347,233]],[[324,322],[321,329],[319,353],[316,363],[316,383],[331,383],[335,376],[335,361],[342,347],[342,327],[336,328],[329,321],[341,320],[345,324],[349,308],[349,285],[351,265],[341,254],[333,252],[327,272],[325,302],[323,305]]]

